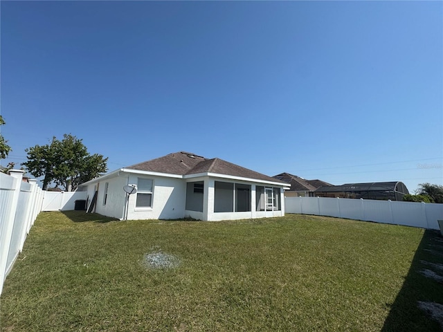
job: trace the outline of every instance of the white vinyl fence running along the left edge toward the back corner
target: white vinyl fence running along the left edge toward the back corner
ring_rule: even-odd
[[[0,294],[43,200],[37,180],[21,181],[21,170],[11,170],[10,174],[0,172]]]

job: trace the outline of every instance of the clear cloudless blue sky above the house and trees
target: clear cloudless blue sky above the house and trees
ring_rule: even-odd
[[[1,1],[1,134],[443,184],[442,1]]]

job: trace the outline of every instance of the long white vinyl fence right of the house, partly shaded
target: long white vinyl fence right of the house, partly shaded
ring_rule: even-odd
[[[443,204],[326,197],[285,197],[286,213],[335,216],[345,219],[392,223],[439,230]]]

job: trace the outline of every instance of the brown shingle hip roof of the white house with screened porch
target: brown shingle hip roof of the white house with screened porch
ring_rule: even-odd
[[[125,168],[178,175],[215,173],[285,183],[284,181],[272,178],[271,176],[266,176],[233,163],[228,163],[219,158],[207,159],[185,151],[175,152]]]

